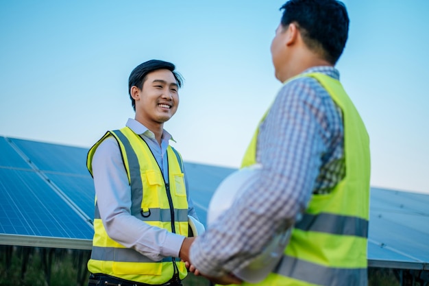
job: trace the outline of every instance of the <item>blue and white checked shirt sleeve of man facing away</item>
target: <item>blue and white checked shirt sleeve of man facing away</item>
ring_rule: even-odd
[[[282,87],[260,125],[256,157],[260,178],[247,187],[191,246],[191,262],[209,276],[245,267],[275,230],[299,220],[314,191],[323,154],[329,153],[338,110],[312,78]]]

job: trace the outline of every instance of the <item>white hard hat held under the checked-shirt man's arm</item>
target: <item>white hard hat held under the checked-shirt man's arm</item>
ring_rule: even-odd
[[[256,182],[260,169],[261,165],[258,164],[239,169],[219,184],[208,206],[208,227],[215,222],[219,215],[232,206],[234,200],[243,193],[243,189]],[[234,271],[233,274],[249,283],[258,283],[264,280],[282,258],[290,235],[290,229],[276,233],[262,253],[245,268]]]

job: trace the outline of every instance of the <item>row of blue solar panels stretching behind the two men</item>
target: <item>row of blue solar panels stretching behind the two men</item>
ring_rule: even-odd
[[[0,136],[0,245],[90,249],[93,180],[88,149]],[[201,222],[234,169],[185,162]],[[428,270],[429,195],[371,188],[368,260]]]

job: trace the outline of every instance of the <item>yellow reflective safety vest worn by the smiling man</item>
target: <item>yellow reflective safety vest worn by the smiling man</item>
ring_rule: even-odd
[[[188,201],[184,183],[183,162],[180,154],[169,146],[169,184],[164,182],[160,167],[149,146],[130,128],[108,131],[88,152],[87,167],[92,176],[92,161],[99,144],[109,136],[117,140],[127,171],[132,193],[131,215],[141,221],[172,233],[188,236]],[[94,238],[88,270],[129,281],[162,284],[169,281],[178,269],[180,278],[187,271],[178,258],[152,261],[136,250],[125,248],[110,239],[101,222],[97,198],[95,200]],[[176,267],[177,265],[177,267]]]

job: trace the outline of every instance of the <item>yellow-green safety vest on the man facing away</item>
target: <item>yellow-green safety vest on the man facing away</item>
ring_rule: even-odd
[[[343,111],[345,177],[331,193],[312,195],[302,220],[292,230],[282,260],[258,285],[365,286],[371,168],[369,136],[338,80],[323,73],[295,78],[304,76],[315,78]],[[242,167],[256,163],[257,137],[258,129]]]

